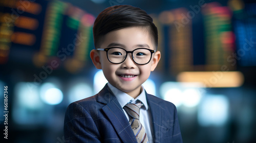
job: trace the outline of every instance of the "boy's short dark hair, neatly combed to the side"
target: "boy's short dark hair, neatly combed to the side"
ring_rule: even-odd
[[[158,31],[152,17],[144,10],[129,5],[112,6],[98,15],[93,26],[95,48],[98,48],[100,38],[107,33],[132,26],[147,28],[157,48]]]

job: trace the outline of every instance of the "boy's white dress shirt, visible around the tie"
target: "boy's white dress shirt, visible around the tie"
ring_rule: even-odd
[[[147,105],[147,101],[146,101],[146,94],[145,94],[145,90],[142,87],[142,92],[140,93],[140,95],[134,99],[133,97],[131,97],[130,95],[122,92],[121,90],[117,89],[116,87],[114,87],[113,85],[111,85],[110,83],[108,83],[109,88],[111,89],[111,91],[113,92],[113,94],[116,96],[117,101],[119,102],[119,104],[121,105],[121,107],[123,108],[127,103],[136,103],[137,100],[140,100],[144,106],[142,106],[140,108],[140,123],[142,124],[142,126],[144,127],[146,134],[147,134],[147,138],[148,138],[148,142],[153,142],[153,138],[152,138],[152,134],[153,134],[153,124],[152,124],[152,116],[151,116],[151,112],[148,109],[148,105]],[[128,121],[130,121],[130,117],[127,115],[127,112],[123,109],[124,114],[127,118]]]

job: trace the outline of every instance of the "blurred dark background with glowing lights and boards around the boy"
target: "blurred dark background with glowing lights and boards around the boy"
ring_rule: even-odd
[[[9,142],[65,142],[67,106],[106,83],[89,53],[114,5],[154,18],[162,57],[144,87],[177,106],[184,142],[256,142],[256,2],[242,0],[1,0],[1,140],[9,111]]]

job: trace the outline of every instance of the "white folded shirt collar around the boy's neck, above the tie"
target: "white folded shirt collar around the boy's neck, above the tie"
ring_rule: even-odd
[[[113,92],[113,94],[115,95],[115,97],[117,98],[117,101],[119,102],[119,104],[121,105],[122,108],[129,102],[136,103],[137,100],[140,100],[147,110],[148,106],[147,106],[147,102],[146,102],[146,93],[145,93],[143,86],[142,86],[142,92],[135,99],[133,97],[131,97],[130,95],[124,93],[123,91],[117,89],[116,87],[111,85],[109,82],[108,82],[108,86],[109,86],[110,90]]]

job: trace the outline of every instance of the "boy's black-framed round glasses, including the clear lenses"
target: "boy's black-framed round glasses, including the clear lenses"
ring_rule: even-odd
[[[133,51],[126,51],[120,47],[111,47],[104,49],[97,49],[99,51],[106,51],[106,56],[108,60],[113,64],[121,64],[125,61],[127,57],[127,53],[132,54],[133,61],[138,65],[145,65],[151,61],[152,54],[156,52],[156,50],[151,50],[147,48],[137,48]]]

